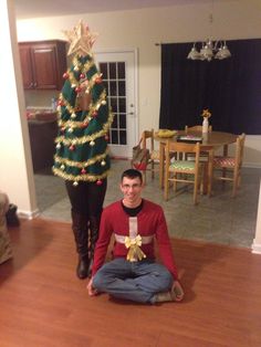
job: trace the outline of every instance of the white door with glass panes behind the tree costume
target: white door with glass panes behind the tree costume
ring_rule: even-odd
[[[108,143],[111,155],[130,158],[137,143],[136,51],[96,52],[94,57],[103,73],[107,102],[114,114]]]

